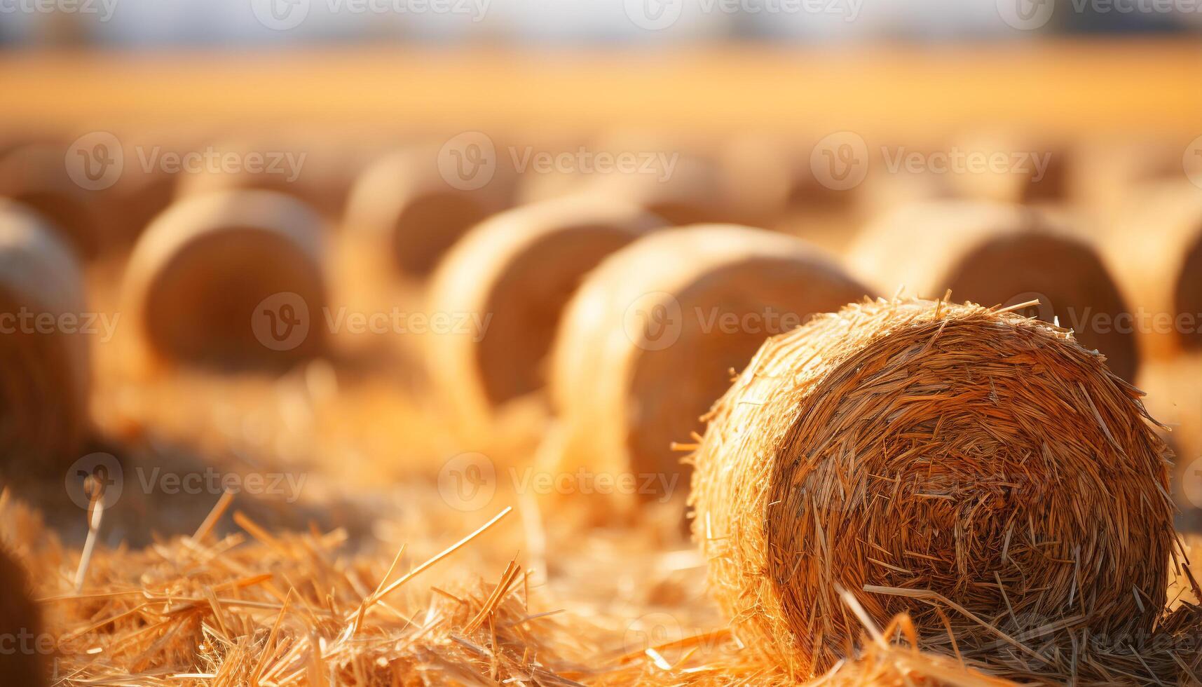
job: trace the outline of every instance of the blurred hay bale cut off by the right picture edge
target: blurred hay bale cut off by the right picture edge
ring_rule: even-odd
[[[1111,262],[1138,306],[1148,354],[1202,350],[1202,189],[1149,183],[1115,213]]]

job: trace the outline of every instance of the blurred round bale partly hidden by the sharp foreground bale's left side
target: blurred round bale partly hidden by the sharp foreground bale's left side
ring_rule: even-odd
[[[702,428],[730,371],[764,337],[867,292],[810,244],[768,231],[698,225],[636,242],[589,274],[565,310],[551,375],[565,437],[553,460],[660,487],[627,502],[665,499],[665,480],[683,493],[671,445]]]

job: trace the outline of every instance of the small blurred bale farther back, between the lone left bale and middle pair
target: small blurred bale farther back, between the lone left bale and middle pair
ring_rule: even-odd
[[[439,172],[439,149],[388,155],[355,182],[345,226],[365,238],[403,276],[428,276],[469,229],[510,206],[513,179],[498,165],[486,185],[464,190]]]

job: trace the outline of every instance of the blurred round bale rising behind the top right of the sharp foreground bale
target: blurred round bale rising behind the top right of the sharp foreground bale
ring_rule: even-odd
[[[1047,214],[1012,205],[934,201],[897,208],[873,223],[849,250],[882,292],[905,288],[987,306],[1039,298],[1027,314],[1059,319],[1082,345],[1106,355],[1112,371],[1133,380],[1138,350],[1130,310],[1090,243]]]

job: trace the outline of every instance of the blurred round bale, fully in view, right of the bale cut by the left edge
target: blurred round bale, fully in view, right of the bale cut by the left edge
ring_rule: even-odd
[[[278,367],[323,349],[322,225],[272,191],[185,199],[155,218],[126,270],[126,310],[154,359]]]

